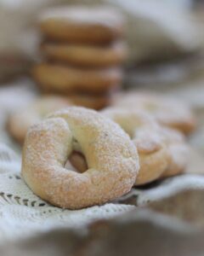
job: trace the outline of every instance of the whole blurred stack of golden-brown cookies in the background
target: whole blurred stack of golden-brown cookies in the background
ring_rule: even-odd
[[[88,108],[107,106],[127,57],[122,15],[105,7],[49,9],[40,27],[43,61],[33,76],[42,90]]]

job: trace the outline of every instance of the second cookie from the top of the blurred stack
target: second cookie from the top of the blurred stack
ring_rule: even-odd
[[[127,46],[122,42],[103,46],[83,44],[43,43],[41,52],[48,61],[60,61],[77,67],[111,67],[127,58]]]

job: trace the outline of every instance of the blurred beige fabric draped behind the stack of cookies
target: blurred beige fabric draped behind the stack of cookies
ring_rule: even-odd
[[[203,23],[190,12],[187,0],[2,0],[0,80],[26,71],[37,58],[37,16],[48,6],[62,3],[111,4],[121,10],[127,18],[130,62],[169,58],[203,48]]]

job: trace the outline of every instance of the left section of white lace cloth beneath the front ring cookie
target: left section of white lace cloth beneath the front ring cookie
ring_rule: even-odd
[[[34,195],[21,179],[20,158],[0,144],[0,242],[54,227],[78,228],[95,219],[111,218],[133,208],[118,203],[77,211],[50,206]]]

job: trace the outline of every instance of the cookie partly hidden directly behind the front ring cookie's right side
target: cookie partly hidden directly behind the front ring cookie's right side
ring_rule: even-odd
[[[138,149],[140,169],[135,184],[143,185],[161,177],[170,157],[155,119],[141,110],[106,108],[102,113],[121,125]]]

